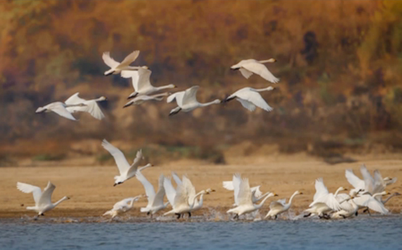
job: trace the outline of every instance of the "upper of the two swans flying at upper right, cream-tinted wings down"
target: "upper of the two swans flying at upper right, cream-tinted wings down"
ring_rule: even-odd
[[[237,63],[231,66],[231,70],[240,70],[240,73],[245,77],[249,78],[253,73],[260,75],[262,78],[269,82],[279,82],[279,78],[274,77],[271,72],[265,67],[262,63],[274,63],[276,59],[270,58],[264,61],[257,61],[254,59],[242,60],[240,63]]]

